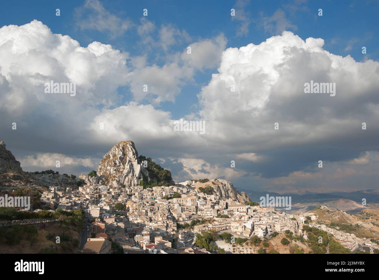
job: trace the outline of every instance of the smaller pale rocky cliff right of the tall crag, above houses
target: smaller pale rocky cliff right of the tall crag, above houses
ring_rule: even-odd
[[[196,189],[199,187],[213,187],[215,194],[217,194],[222,199],[232,199],[240,203],[245,201],[250,201],[250,197],[245,192],[239,192],[232,182],[226,181],[224,179],[214,179],[205,183],[196,182],[193,184]]]

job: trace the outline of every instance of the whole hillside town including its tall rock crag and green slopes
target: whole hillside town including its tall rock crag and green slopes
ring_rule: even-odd
[[[330,212],[325,206],[289,214],[275,206],[262,207],[224,179],[175,183],[170,171],[138,156],[131,141],[116,144],[97,171],[81,174],[74,186],[50,186],[35,199],[41,209],[31,209],[29,216],[23,210],[25,219],[0,221],[0,226],[62,225],[73,216],[68,223],[74,225],[70,230],[79,232],[75,244],[80,253],[379,252],[375,231],[373,238],[349,231],[359,225],[376,227],[377,219],[361,222],[356,217],[343,223],[330,219],[327,224],[321,219]],[[342,211],[331,213],[349,216]]]

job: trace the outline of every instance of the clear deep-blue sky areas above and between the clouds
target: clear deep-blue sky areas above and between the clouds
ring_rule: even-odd
[[[69,35],[87,46],[93,41],[111,44],[114,48],[129,52],[131,55],[148,54],[151,63],[163,65],[164,60],[157,58],[157,50],[141,48],[141,40],[135,29],[113,38],[99,30],[80,30],[75,9],[83,6],[85,1],[39,1],[38,5],[29,1],[4,2],[0,25],[23,25],[33,19],[42,21],[53,33]],[[242,1],[243,10],[251,23],[245,35],[238,36],[237,30],[241,20],[232,20],[230,9],[236,8],[235,1],[102,1],[103,6],[111,14],[121,19],[130,19],[138,24],[143,9],[148,9],[148,19],[157,26],[171,24],[179,30],[185,30],[193,38],[210,38],[223,33],[228,42],[227,47],[246,46],[249,43],[259,44],[272,35],[278,35],[276,30],[265,30],[262,17],[271,17],[279,9],[285,14],[288,30],[294,31],[302,39],[313,37],[325,40],[324,49],[337,55],[351,55],[356,61],[365,59],[362,46],[367,48],[368,55],[373,60],[379,58],[376,36],[379,22],[377,11],[378,1]],[[268,5],[269,3],[269,5]],[[55,16],[59,8],[61,16]],[[323,9],[319,17],[318,9]],[[91,16],[89,10],[82,10],[81,16]],[[276,24],[272,22],[271,24]],[[288,25],[287,25],[288,26]],[[274,28],[275,29],[275,28]],[[287,30],[286,29],[286,30]],[[280,29],[281,30],[281,29]],[[175,45],[171,51],[180,51],[188,45],[186,42]],[[164,102],[163,110],[169,110],[175,118],[180,118],[183,112],[194,112],[197,104],[196,94],[202,85],[209,82],[211,73],[216,67],[198,73],[194,83],[185,85],[175,103]],[[123,101],[130,100],[127,89]],[[180,108],[180,109],[179,109]]]

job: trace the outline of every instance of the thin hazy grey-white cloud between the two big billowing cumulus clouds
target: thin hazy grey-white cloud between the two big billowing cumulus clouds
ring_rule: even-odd
[[[163,41],[171,44],[168,39]],[[211,39],[200,39],[189,45],[191,53],[187,53],[185,49],[180,56],[174,55],[163,66],[147,65],[146,56],[131,58],[135,68],[128,74],[127,81],[134,100],[148,100],[155,105],[164,101],[174,102],[182,86],[192,80],[196,71],[218,65],[226,43],[227,39],[223,34]],[[157,42],[153,43],[156,44]]]

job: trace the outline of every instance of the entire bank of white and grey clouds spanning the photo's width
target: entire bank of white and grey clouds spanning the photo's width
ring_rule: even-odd
[[[377,61],[334,55],[323,49],[323,39],[304,41],[288,31],[225,51],[223,35],[192,44],[193,57],[179,52],[158,66],[100,42],[81,47],[36,20],[2,27],[0,135],[19,154],[21,149],[75,154],[68,162],[81,166],[90,164],[86,159],[100,159],[118,141],[133,140],[139,153],[166,159],[163,166],[174,168],[178,179],[226,176],[251,185],[251,180],[288,177],[291,184],[317,173],[318,160],[324,161],[323,172],[334,162],[372,167],[364,163],[366,151],[379,150]],[[207,57],[196,52],[198,47],[222,55]],[[174,131],[171,113],[153,105],[174,101],[195,71],[217,64],[198,94],[199,111],[191,115],[205,121],[206,133]],[[75,82],[76,96],[46,94],[44,83],[50,80]],[[336,95],[304,93],[304,83],[311,80],[335,83]],[[118,90],[125,86],[134,102],[120,102]],[[16,131],[10,128],[13,122]],[[30,154],[23,153],[19,158]],[[41,158],[24,162],[42,164]],[[230,160],[238,169],[230,168]],[[327,171],[328,178],[348,178],[333,170],[337,175]],[[318,184],[318,177],[313,180]]]

